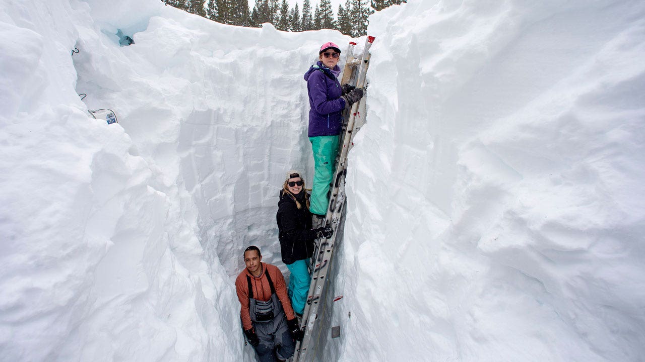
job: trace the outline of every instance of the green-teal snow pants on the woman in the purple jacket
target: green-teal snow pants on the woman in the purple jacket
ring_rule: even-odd
[[[338,153],[340,136],[309,137],[313,151],[312,197],[310,198],[309,211],[312,214],[326,215],[329,206],[330,184],[333,178],[333,163]]]

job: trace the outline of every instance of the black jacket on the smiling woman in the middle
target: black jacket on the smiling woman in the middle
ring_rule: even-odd
[[[312,213],[306,204],[309,194],[304,190],[301,192],[304,193],[304,200],[300,201],[301,208],[298,209],[293,196],[280,190],[275,220],[278,223],[280,251],[285,264],[311,258],[313,254],[316,233],[312,230]]]

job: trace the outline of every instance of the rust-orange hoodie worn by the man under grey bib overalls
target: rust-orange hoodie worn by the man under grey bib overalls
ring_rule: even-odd
[[[271,299],[271,287],[269,281],[266,280],[266,275],[264,275],[264,270],[269,272],[271,281],[273,281],[273,287],[275,287],[275,294],[277,294],[278,299],[281,301],[284,309],[284,314],[286,314],[286,319],[293,319],[295,315],[293,314],[293,308],[291,307],[291,301],[286,292],[286,284],[284,283],[284,276],[280,269],[275,265],[262,263],[262,274],[257,278],[253,276],[248,269],[244,270],[237,276],[235,279],[235,290],[237,291],[237,299],[239,299],[240,304],[242,305],[240,309],[240,316],[242,317],[242,325],[244,329],[251,329],[253,327],[251,323],[251,314],[248,311],[249,301],[248,301],[248,282],[246,281],[246,276],[251,277],[251,286],[253,287],[253,298],[261,301],[268,301]]]

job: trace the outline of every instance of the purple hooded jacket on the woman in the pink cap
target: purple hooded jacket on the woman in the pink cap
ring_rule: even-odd
[[[341,67],[329,69],[318,61],[304,73],[309,94],[309,137],[341,134],[342,110],[345,100],[341,98],[341,84],[336,77]]]

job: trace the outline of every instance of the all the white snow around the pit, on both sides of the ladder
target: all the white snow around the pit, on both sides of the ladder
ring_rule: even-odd
[[[241,251],[286,271],[277,192],[312,174],[301,77],[349,39],[157,0],[0,10],[0,360],[253,361]],[[370,21],[326,360],[644,361],[645,3]]]

